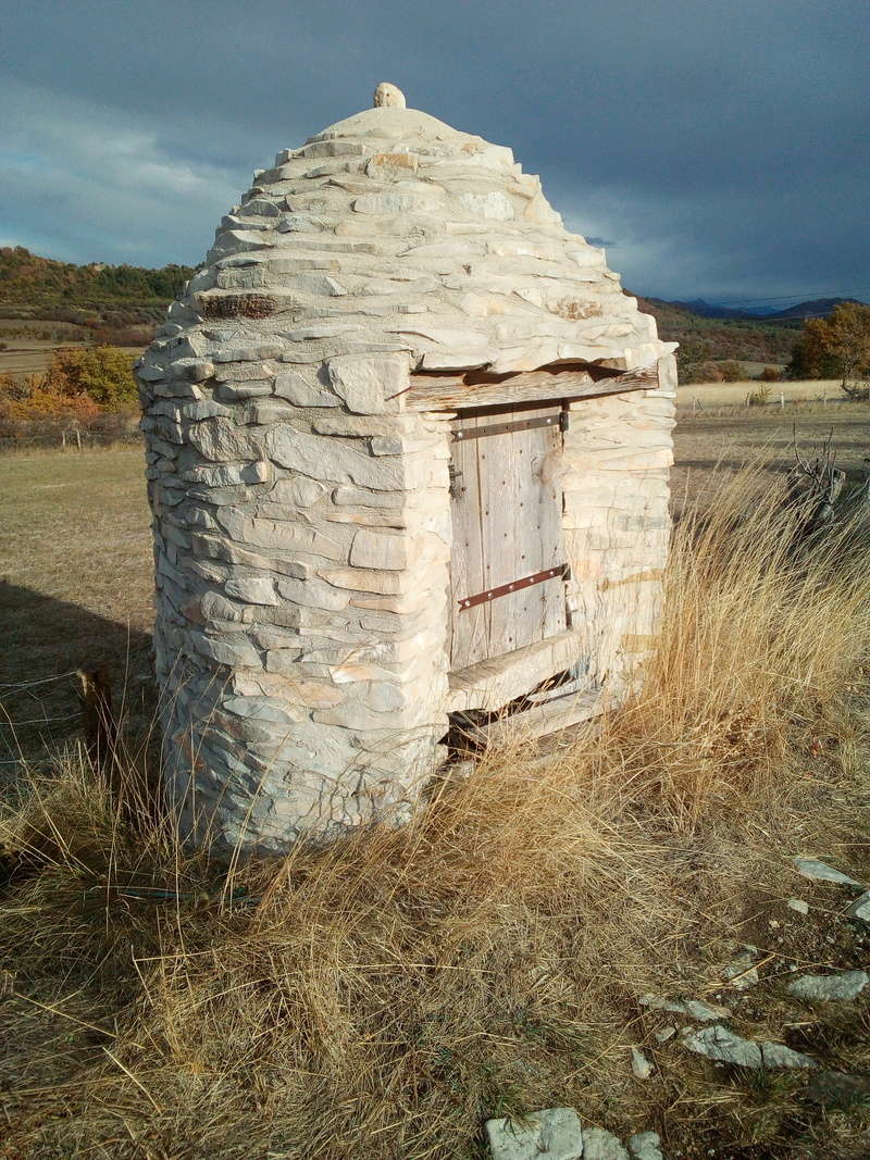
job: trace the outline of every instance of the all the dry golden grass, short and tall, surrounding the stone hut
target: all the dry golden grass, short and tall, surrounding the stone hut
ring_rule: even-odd
[[[870,880],[867,532],[795,559],[793,516],[760,501],[791,463],[790,420],[754,409],[677,429],[682,515],[637,703],[491,753],[408,828],[229,879],[179,846],[137,747],[142,452],[0,457],[0,702],[30,759],[12,764],[6,730],[0,1160],[484,1160],[485,1118],[557,1104],[623,1138],[654,1129],[672,1160],[869,1155],[865,1095],[831,1104],[806,1073],[715,1067],[659,1044],[673,1016],[637,1003],[725,1002],[741,1035],[870,1073],[867,1000],[783,988],[793,969],[868,960],[851,896],[790,862]],[[856,479],[870,408],[800,430],[831,426]],[[103,660],[130,689],[121,789],[75,748],[71,679],[21,688]],[[723,970],[745,943],[763,965],[742,992]]]

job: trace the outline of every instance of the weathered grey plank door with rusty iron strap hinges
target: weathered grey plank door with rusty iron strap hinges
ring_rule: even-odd
[[[454,669],[565,628],[561,415],[551,404],[454,423]]]

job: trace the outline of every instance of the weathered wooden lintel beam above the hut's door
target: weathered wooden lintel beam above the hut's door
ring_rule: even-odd
[[[600,368],[593,368],[592,372],[537,370],[496,383],[466,383],[458,375],[412,375],[411,386],[399,398],[408,411],[462,411],[643,391],[658,386],[659,382],[657,367],[594,377],[600,374]]]

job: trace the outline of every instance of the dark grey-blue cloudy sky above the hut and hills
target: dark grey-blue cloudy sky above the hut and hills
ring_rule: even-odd
[[[509,145],[636,292],[870,299],[869,0],[7,3],[0,245],[196,264],[380,80]]]

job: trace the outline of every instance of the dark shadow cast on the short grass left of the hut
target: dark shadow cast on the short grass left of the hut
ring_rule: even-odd
[[[75,669],[108,669],[115,710],[133,728],[154,716],[147,632],[0,580],[0,781],[81,735]]]

